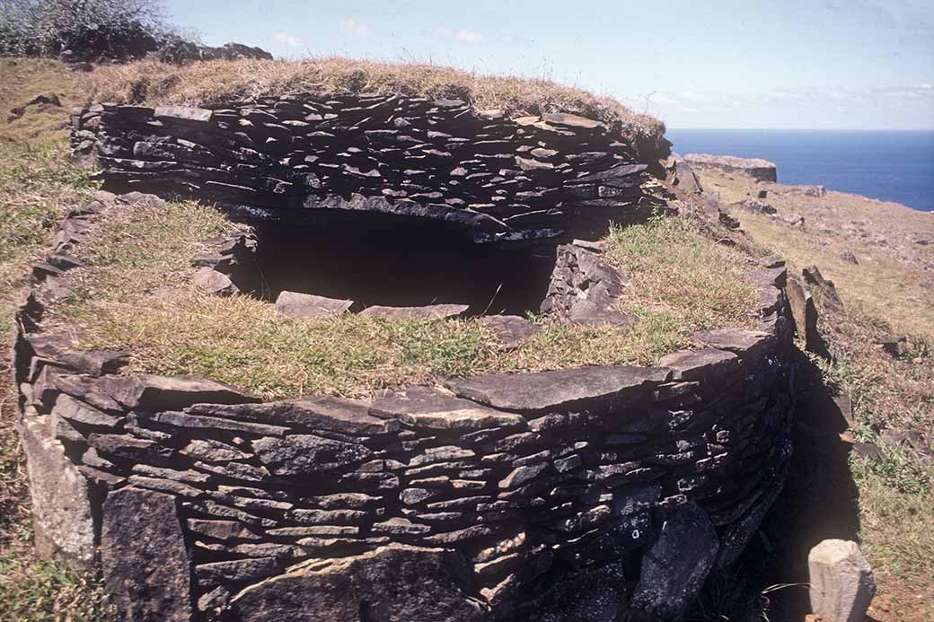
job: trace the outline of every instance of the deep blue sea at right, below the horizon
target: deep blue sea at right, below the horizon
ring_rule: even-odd
[[[934,131],[669,130],[672,150],[763,158],[782,184],[820,184],[934,211]]]

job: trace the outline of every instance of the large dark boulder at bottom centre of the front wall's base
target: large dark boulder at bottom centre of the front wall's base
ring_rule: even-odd
[[[468,596],[460,555],[390,544],[352,558],[311,561],[244,589],[231,607],[238,619],[267,622],[436,622],[488,620]]]

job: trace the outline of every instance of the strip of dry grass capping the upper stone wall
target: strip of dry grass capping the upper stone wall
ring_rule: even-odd
[[[184,67],[139,61],[98,67],[88,74],[95,101],[222,104],[296,92],[401,93],[432,99],[459,98],[478,109],[512,116],[571,112],[604,121],[617,132],[658,138],[664,124],[636,114],[615,99],[541,78],[479,76],[433,64],[392,64],[340,57],[301,61],[212,61]]]

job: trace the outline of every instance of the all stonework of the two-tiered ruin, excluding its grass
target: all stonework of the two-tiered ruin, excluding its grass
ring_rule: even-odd
[[[253,233],[192,258],[193,281],[290,317],[492,313],[481,321],[505,347],[536,330],[518,317],[530,310],[625,326],[634,318],[614,308],[625,275],[587,239],[608,219],[665,208],[648,176],[665,149],[567,114],[300,94],[100,105],[73,120],[75,153],[96,160],[107,188],[192,196],[248,219]],[[261,403],[206,378],[122,375],[130,353],[43,330],[80,265],[71,250],[108,208],[71,213],[35,265],[13,360],[36,544],[99,570],[121,620],[678,619],[783,486],[794,327],[782,262],[751,276],[757,330],[698,332],[656,367]],[[363,281],[291,290],[274,276],[284,264],[263,258],[292,231],[288,263],[320,247],[332,254],[316,262],[347,265],[339,247],[368,227],[403,248],[456,248],[468,270],[453,281],[478,293],[426,306],[365,299],[374,286]],[[524,276],[533,291],[488,300],[490,282],[468,274],[493,271],[476,269],[483,256],[517,266],[507,289]],[[442,262],[447,280],[455,263]],[[512,282],[497,281],[497,295]]]

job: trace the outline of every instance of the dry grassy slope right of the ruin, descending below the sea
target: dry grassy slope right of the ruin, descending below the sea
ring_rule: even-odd
[[[881,620],[934,618],[934,470],[879,435],[889,428],[917,430],[928,443],[934,435],[934,271],[925,268],[934,252],[910,242],[915,233],[934,233],[934,216],[842,192],[804,197],[790,187],[715,172],[702,172],[701,183],[719,191],[726,204],[767,189],[766,202],[780,215],[805,217],[803,229],[789,229],[732,208],[743,230],[787,258],[792,273],[817,264],[840,292],[845,312],[824,311],[820,320],[836,357],[824,371],[853,400],[851,434],[882,447],[881,458],[850,458],[859,537],[880,587],[870,614]],[[871,234],[853,234],[854,223]],[[879,237],[884,245],[872,242]],[[844,250],[859,263],[842,260]],[[874,343],[893,332],[909,335],[912,352],[903,360]]]

